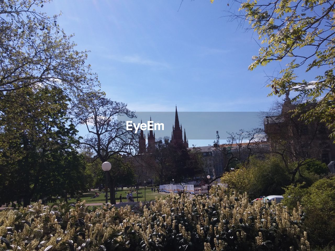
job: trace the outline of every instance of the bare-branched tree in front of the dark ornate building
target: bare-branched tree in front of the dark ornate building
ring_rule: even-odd
[[[303,178],[300,168],[313,165],[320,159],[323,142],[328,135],[320,132],[320,122],[305,124],[295,116],[291,116],[291,104],[288,97],[283,104],[275,103],[266,113],[264,119],[264,140],[270,143],[270,148],[264,153],[273,153],[283,160],[288,173]]]

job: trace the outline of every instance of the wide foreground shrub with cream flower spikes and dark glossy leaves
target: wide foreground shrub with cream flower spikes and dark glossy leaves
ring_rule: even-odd
[[[94,211],[77,204],[0,212],[1,250],[309,250],[302,208],[253,205],[246,194],[189,199],[169,195],[150,204]],[[74,206],[74,207],[73,207]],[[137,213],[139,212],[139,213]],[[303,217],[303,218],[302,218]]]

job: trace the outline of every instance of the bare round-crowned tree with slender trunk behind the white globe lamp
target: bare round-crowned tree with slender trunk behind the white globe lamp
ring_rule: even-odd
[[[134,118],[135,112],[129,110],[122,102],[112,101],[104,93],[89,92],[78,98],[72,114],[77,124],[87,128],[87,136],[80,142],[94,152],[93,160],[102,163],[110,159],[118,159],[120,154],[135,151],[138,137],[135,130],[126,130],[126,122],[119,117]],[[116,176],[111,174],[111,203],[115,204]]]

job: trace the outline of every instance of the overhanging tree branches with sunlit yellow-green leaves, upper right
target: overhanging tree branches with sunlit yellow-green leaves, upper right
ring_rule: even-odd
[[[213,2],[211,0],[211,2]],[[249,70],[270,62],[284,61],[278,76],[268,76],[271,93],[281,96],[295,91],[293,101],[300,101],[294,114],[309,122],[326,122],[335,139],[335,19],[333,1],[235,1],[240,14],[232,19],[249,21],[248,29],[258,34],[259,54]],[[298,69],[311,72],[315,79],[305,80]],[[306,109],[308,107],[308,109]],[[302,112],[303,111],[303,112]]]

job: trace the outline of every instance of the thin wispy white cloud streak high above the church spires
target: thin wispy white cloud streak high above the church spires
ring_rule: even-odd
[[[160,62],[156,60],[143,58],[139,55],[127,55],[127,56],[104,55],[103,57],[126,64],[146,65],[146,66],[155,66],[164,68],[170,67],[170,65],[167,64],[166,62]]]

